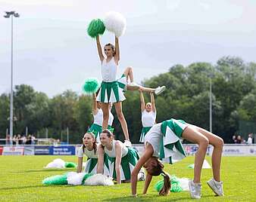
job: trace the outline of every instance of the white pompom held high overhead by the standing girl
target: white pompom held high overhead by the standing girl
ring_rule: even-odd
[[[106,14],[104,24],[109,32],[114,32],[114,35],[120,37],[126,30],[126,19],[122,14],[117,12],[108,12]]]

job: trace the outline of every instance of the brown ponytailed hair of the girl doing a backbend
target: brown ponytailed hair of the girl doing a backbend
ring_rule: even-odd
[[[162,164],[158,159],[157,162],[158,164],[156,164],[155,166],[151,166],[151,168],[147,170],[147,172],[149,171],[148,173],[151,176],[162,175],[164,177],[164,185],[163,188],[161,188],[161,190],[159,191],[159,195],[166,196],[170,191],[170,176],[168,175],[168,173],[164,172],[164,164]]]

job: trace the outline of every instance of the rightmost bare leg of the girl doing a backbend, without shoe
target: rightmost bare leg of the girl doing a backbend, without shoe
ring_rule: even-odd
[[[198,130],[198,132],[202,133],[204,136],[206,136],[209,139],[209,144],[214,146],[214,152],[211,156],[211,164],[213,169],[213,175],[214,179],[218,182],[220,182],[220,161],[221,161],[221,155],[223,150],[223,139],[219,136],[214,135],[213,133],[209,132],[208,130],[204,130],[201,127],[197,127],[192,125],[192,127],[195,128],[195,130]]]

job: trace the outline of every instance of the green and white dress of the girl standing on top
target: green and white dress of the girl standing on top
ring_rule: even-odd
[[[123,95],[123,90],[126,87],[126,77],[122,75],[117,80],[117,69],[118,66],[114,62],[114,57],[109,62],[106,59],[102,61],[102,83],[98,92],[97,101],[101,103],[117,103],[126,99]]]

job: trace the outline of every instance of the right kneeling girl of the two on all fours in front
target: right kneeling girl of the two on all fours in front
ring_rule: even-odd
[[[101,145],[98,147],[98,168],[97,173],[102,173],[104,155],[111,159],[111,176],[121,182],[130,182],[131,172],[139,160],[139,155],[134,148],[126,147],[123,142],[114,140],[110,130],[103,130],[101,133]],[[144,173],[139,170],[139,179],[144,179]]]

